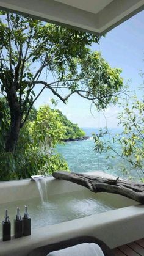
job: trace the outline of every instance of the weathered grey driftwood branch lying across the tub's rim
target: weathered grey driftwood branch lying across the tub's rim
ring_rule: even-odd
[[[109,179],[92,175],[75,174],[73,172],[53,172],[53,177],[85,186],[90,191],[120,194],[144,204],[144,183],[135,183],[119,178]]]

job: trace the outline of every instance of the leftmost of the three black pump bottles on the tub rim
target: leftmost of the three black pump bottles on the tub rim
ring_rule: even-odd
[[[10,240],[10,220],[8,216],[8,210],[5,210],[5,218],[2,221],[2,241]]]

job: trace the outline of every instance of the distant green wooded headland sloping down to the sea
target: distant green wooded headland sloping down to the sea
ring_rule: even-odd
[[[59,113],[59,122],[65,127],[65,135],[63,139],[77,139],[85,136],[85,132],[79,128],[77,124],[74,124],[68,120],[67,117],[58,109],[57,112]]]

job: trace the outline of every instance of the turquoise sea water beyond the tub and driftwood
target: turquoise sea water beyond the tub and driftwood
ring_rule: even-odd
[[[98,134],[98,128],[82,128],[87,136],[92,136],[92,133]],[[105,139],[109,139],[115,134],[120,134],[122,128],[109,128],[109,134],[105,135]],[[93,137],[84,141],[71,141],[65,142],[65,145],[57,145],[57,152],[60,153],[68,163],[68,166],[72,172],[93,172],[96,170],[106,172],[107,174],[117,175],[120,177],[128,178],[130,176],[136,176],[134,170],[129,169],[128,164],[123,159],[117,157],[115,153],[103,152],[100,155],[96,154],[94,147]],[[120,152],[120,146],[113,144],[115,150]],[[107,158],[107,155],[110,158]],[[125,166],[128,173],[123,173],[122,169]]]

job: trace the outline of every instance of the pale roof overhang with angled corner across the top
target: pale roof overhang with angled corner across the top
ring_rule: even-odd
[[[0,9],[103,35],[140,12],[144,0],[0,0]]]

